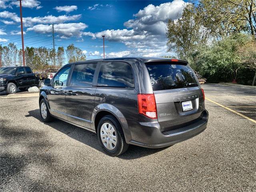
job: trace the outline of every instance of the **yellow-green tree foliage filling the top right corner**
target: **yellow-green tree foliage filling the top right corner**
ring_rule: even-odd
[[[217,38],[249,32],[256,38],[255,0],[200,0],[203,26]]]

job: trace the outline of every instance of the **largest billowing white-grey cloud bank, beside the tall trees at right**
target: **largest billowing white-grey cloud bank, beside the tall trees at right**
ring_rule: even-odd
[[[143,56],[154,53],[154,56],[162,56],[167,50],[166,24],[169,19],[176,20],[181,16],[185,4],[187,3],[183,0],[174,0],[159,6],[150,4],[134,14],[134,19],[125,22],[125,29],[85,32],[83,35],[91,36],[93,39],[105,35],[106,41],[122,42],[128,48],[136,49],[130,52],[131,55]]]

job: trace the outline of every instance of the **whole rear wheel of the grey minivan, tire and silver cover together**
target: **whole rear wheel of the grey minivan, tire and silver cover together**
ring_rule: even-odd
[[[110,156],[118,156],[128,149],[122,127],[112,115],[104,116],[100,120],[97,134],[100,145]]]

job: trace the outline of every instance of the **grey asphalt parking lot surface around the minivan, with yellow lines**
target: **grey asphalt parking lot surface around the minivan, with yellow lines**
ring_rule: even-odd
[[[256,191],[256,89],[203,88],[204,132],[119,157],[104,154],[96,134],[43,123],[38,97],[0,98],[0,191]]]

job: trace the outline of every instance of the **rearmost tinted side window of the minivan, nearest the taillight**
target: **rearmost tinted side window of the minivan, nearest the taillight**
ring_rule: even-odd
[[[97,86],[134,88],[131,66],[125,62],[102,62]]]

